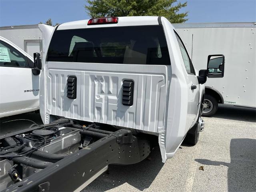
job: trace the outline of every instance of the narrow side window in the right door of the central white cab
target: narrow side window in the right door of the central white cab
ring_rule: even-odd
[[[184,65],[185,65],[185,68],[186,68],[186,71],[188,74],[196,74],[195,71],[194,71],[194,68],[193,68],[193,65],[192,65],[192,62],[190,61],[190,58],[188,56],[188,52],[184,46],[184,44],[182,43],[182,40],[180,39],[180,37],[176,34],[175,32],[175,35],[176,35],[176,38],[178,40],[178,44],[180,46],[180,52],[182,54],[182,59],[183,59],[183,62],[184,62]]]

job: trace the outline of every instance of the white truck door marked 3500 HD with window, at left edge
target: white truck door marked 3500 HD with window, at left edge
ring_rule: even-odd
[[[28,68],[28,59],[0,40],[0,117],[38,109],[39,76]]]

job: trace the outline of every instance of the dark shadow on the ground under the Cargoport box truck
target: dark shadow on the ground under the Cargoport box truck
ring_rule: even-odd
[[[212,117],[256,122],[256,108],[219,104],[218,111]]]

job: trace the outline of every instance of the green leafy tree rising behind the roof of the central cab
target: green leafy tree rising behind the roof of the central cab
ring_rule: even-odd
[[[92,18],[112,16],[164,16],[171,23],[188,20],[188,12],[179,13],[187,2],[177,0],[87,0],[84,8]]]

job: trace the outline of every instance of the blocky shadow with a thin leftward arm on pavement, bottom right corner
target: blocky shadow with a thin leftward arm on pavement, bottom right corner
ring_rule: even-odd
[[[232,139],[230,142],[230,163],[195,159],[204,165],[228,167],[228,191],[256,191],[256,140]]]

